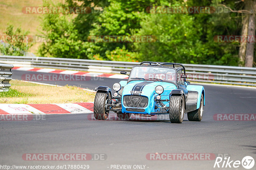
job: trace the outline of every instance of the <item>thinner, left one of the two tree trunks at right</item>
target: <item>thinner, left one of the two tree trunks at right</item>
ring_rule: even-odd
[[[248,10],[250,8],[249,3],[245,3],[244,10]],[[249,14],[244,13],[244,18],[243,18],[243,27],[242,27],[242,36],[247,36],[248,33],[248,21],[249,21]],[[244,60],[245,60],[245,49],[246,49],[246,41],[241,41],[240,42],[240,47],[239,47],[239,66],[244,66]]]

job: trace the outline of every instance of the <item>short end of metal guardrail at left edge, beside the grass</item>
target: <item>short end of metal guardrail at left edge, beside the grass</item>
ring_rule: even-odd
[[[8,91],[11,87],[9,81],[12,80],[12,64],[0,63],[0,92]]]

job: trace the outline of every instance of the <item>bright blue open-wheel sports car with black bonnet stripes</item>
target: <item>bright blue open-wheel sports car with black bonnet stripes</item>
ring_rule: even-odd
[[[121,74],[127,74],[121,71]],[[118,118],[132,114],[154,116],[167,114],[171,123],[182,123],[184,113],[189,121],[201,121],[205,105],[204,87],[186,81],[186,69],[180,63],[143,61],[133,66],[127,81],[96,88],[94,117],[106,120],[109,111]]]

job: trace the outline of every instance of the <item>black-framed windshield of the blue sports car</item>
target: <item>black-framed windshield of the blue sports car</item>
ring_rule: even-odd
[[[136,66],[133,67],[129,80],[172,81],[176,83],[176,72],[173,68]]]

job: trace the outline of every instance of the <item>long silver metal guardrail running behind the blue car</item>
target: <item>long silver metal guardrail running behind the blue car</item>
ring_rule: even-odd
[[[26,57],[0,55],[0,62],[13,64],[15,67],[39,67],[89,72],[120,73],[130,72],[132,66],[140,62],[84,60],[50,57]],[[184,64],[189,81],[216,82],[236,85],[256,85],[256,68]]]

